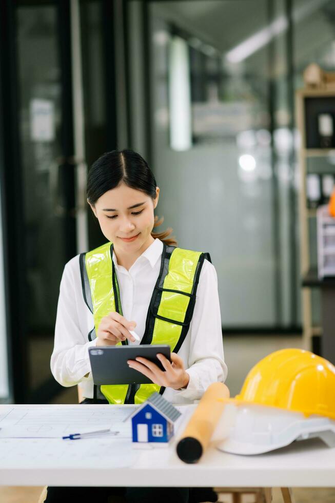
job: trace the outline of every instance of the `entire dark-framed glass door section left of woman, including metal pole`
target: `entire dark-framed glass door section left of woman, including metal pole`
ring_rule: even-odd
[[[105,242],[86,178],[87,164],[117,145],[114,17],[108,0],[17,0],[2,9],[0,188],[18,403],[49,402],[62,390],[50,356],[64,265]]]

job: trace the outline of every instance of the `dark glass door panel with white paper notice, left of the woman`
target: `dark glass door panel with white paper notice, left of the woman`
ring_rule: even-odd
[[[58,388],[50,372],[57,298],[77,253],[70,24],[70,2],[17,3],[25,401],[47,401]]]

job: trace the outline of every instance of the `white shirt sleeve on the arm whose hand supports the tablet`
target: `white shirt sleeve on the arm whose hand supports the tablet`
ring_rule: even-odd
[[[188,373],[190,380],[179,392],[189,400],[199,400],[213,382],[224,382],[224,361],[218,278],[214,266],[205,260],[199,278],[192,322],[190,324]]]

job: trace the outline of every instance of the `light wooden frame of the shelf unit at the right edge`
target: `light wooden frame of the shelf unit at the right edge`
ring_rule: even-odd
[[[297,127],[300,133],[300,147],[299,147],[299,172],[300,172],[300,192],[299,192],[299,220],[300,220],[300,261],[301,261],[301,275],[302,278],[310,279],[311,272],[313,271],[314,276],[317,275],[316,267],[317,263],[311,261],[311,249],[310,249],[310,222],[311,219],[317,217],[316,209],[309,209],[307,207],[306,198],[306,176],[307,176],[307,164],[309,160],[315,162],[318,158],[320,161],[325,162],[326,159],[331,160],[329,162],[329,170],[322,171],[324,173],[332,173],[335,175],[335,148],[308,148],[306,145],[306,106],[307,100],[312,99],[325,99],[327,103],[333,103],[331,105],[331,111],[335,117],[335,88],[333,89],[313,89],[305,88],[299,89],[295,93],[295,112],[297,118]],[[333,101],[332,101],[333,100]],[[309,102],[310,103],[310,102]],[[315,222],[317,226],[317,223]],[[317,244],[315,243],[315,246]],[[315,251],[315,250],[312,250]],[[315,253],[314,253],[315,255]],[[313,281],[311,281],[313,282]],[[303,323],[303,345],[305,349],[312,350],[312,337],[322,335],[322,327],[320,324],[313,324],[312,320],[312,294],[311,288],[318,287],[319,284],[311,285],[309,281],[306,281],[302,288],[302,323]],[[304,281],[302,283],[304,285]]]

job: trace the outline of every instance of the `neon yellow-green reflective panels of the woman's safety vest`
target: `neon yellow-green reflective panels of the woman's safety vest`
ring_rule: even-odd
[[[102,318],[110,312],[116,311],[122,315],[112,253],[112,244],[106,243],[85,255],[95,333]],[[206,254],[198,251],[164,244],[161,270],[150,301],[141,344],[169,344],[171,351],[179,351],[192,319],[196,288],[205,257]],[[123,344],[127,343],[127,340],[123,341]],[[152,393],[164,391],[158,384],[113,384],[101,386],[100,389],[109,403],[115,404],[143,403]]]

